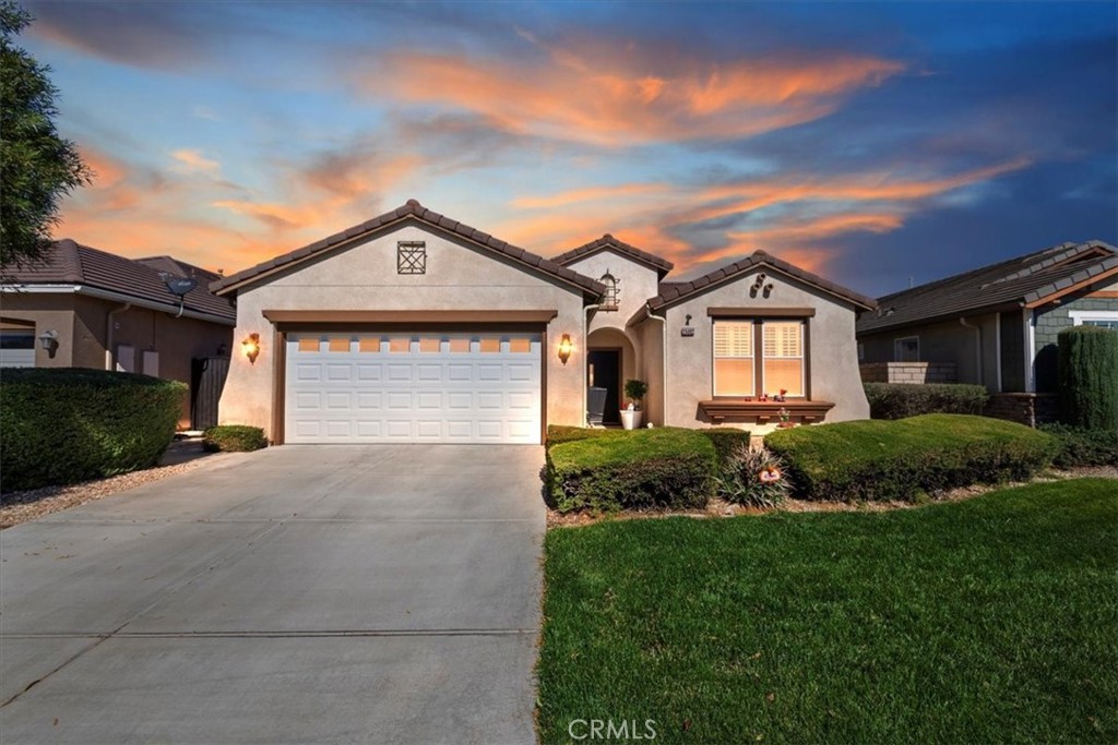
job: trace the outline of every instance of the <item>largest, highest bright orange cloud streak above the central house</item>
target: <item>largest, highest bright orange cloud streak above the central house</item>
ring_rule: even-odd
[[[802,124],[903,69],[897,61],[845,55],[727,65],[682,59],[654,74],[664,59],[587,61],[550,51],[548,63],[519,67],[400,51],[385,61],[390,74],[378,70],[357,83],[372,96],[475,112],[514,133],[626,145],[741,137]]]

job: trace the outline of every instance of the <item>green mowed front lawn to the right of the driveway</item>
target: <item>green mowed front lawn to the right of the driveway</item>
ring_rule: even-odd
[[[543,743],[1118,742],[1114,480],[560,528],[544,572]]]

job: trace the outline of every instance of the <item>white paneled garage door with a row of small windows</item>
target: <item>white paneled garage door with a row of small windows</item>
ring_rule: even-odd
[[[291,333],[287,442],[540,441],[541,335]]]

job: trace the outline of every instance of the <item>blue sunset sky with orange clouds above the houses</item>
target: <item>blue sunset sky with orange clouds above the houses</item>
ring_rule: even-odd
[[[1118,239],[1118,4],[28,2],[96,171],[57,235],[236,271],[416,198],[671,278],[881,295]]]

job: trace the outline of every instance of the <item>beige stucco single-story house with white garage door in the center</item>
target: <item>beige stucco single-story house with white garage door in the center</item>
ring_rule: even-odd
[[[761,251],[671,269],[608,235],[548,260],[410,200],[211,285],[246,352],[220,419],[274,442],[539,443],[586,423],[588,383],[622,405],[631,378],[655,426],[869,416],[872,299]]]

